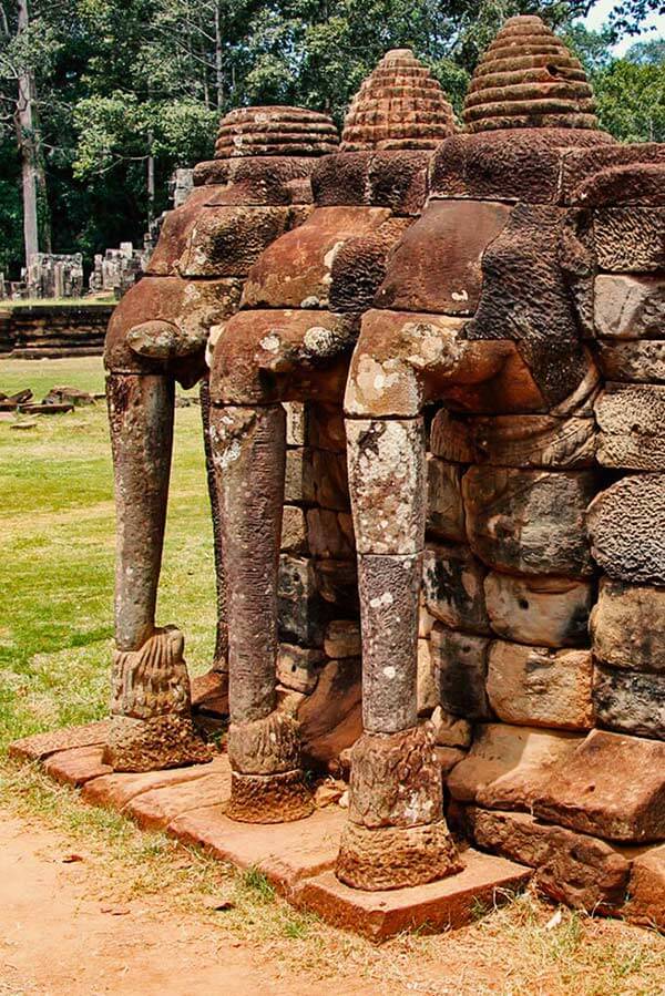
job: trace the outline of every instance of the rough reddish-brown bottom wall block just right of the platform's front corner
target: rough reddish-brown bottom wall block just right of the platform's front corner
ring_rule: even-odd
[[[536,886],[555,902],[587,913],[612,913],[623,905],[630,863],[605,841],[541,823],[529,813],[470,807],[466,818],[480,848],[536,869]]]

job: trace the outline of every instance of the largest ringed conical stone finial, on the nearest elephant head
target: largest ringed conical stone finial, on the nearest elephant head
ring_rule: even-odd
[[[463,117],[471,132],[597,127],[582,63],[536,17],[510,18],[499,31],[475,68]]]

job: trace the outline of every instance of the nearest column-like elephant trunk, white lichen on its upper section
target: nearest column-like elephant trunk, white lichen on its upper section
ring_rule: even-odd
[[[418,726],[422,419],[349,419],[347,439],[365,733],[351,751],[349,820],[337,876],[356,889],[399,889],[461,869],[443,818],[432,730],[429,723]]]

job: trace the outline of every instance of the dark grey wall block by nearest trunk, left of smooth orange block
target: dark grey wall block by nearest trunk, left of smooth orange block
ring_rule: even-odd
[[[490,641],[437,623],[430,644],[442,708],[464,719],[488,719],[491,709],[485,679]]]

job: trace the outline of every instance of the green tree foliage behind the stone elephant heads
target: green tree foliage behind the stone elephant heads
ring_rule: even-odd
[[[213,151],[233,106],[300,104],[338,124],[352,94],[389,48],[411,47],[458,114],[480,52],[505,18],[539,13],[590,72],[605,127],[625,141],[662,136],[662,40],[623,60],[610,45],[662,0],[627,0],[612,27],[585,30],[586,0],[30,0],[17,34],[14,4],[0,0],[0,269],[22,260],[20,163],[11,105],[16,75],[37,85],[54,251],[94,253],[146,228],[147,163],[155,212],[166,179]],[[4,30],[7,21],[7,30]],[[7,112],[7,113],[3,113]]]

